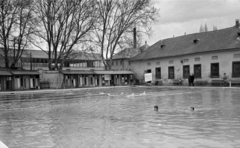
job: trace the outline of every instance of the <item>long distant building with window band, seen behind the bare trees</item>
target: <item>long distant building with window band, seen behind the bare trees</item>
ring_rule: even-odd
[[[4,67],[4,55],[2,50],[0,50],[1,65]],[[46,52],[42,50],[29,50],[25,49],[21,60],[16,64],[17,67],[21,67],[23,69],[32,69],[38,70],[48,69],[48,55]],[[63,69],[73,69],[73,70],[84,70],[84,69],[103,69],[103,62],[100,54],[96,53],[87,53],[76,51],[72,53],[66,62],[64,63]]]

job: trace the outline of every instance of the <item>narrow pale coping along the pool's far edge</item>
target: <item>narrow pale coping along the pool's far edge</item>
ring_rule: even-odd
[[[88,90],[88,89],[109,89],[109,88],[124,88],[124,87],[133,87],[133,86],[109,86],[109,87],[86,87],[86,88],[69,88],[69,89],[40,89],[40,90],[19,90],[19,91],[3,91],[0,92],[0,95],[5,94],[24,94],[24,93],[47,93],[47,92],[56,92],[56,91],[76,91],[76,90]],[[154,88],[222,88],[222,89],[240,89],[240,87],[212,87],[212,86],[146,86],[146,85],[137,85],[134,86],[135,88],[138,87],[154,87]],[[133,87],[133,88],[134,88]]]

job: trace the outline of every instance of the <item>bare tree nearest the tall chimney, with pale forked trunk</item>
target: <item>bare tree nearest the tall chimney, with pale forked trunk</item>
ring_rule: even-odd
[[[99,17],[93,40],[101,52],[105,69],[111,69],[113,54],[132,38],[133,28],[150,34],[158,11],[150,0],[98,0],[97,7]]]

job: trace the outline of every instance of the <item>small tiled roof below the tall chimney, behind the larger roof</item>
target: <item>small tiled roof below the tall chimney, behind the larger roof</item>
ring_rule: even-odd
[[[140,48],[125,48],[124,50],[118,52],[113,56],[113,59],[128,59],[131,57],[136,56],[140,52],[146,50],[149,47],[149,45],[145,44],[141,46]]]

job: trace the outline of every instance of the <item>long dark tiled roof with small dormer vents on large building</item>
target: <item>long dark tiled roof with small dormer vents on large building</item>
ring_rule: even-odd
[[[216,31],[194,33],[160,40],[146,51],[131,58],[131,60],[147,60],[240,48],[239,31],[240,29],[234,26]],[[194,43],[194,40],[196,43]]]

